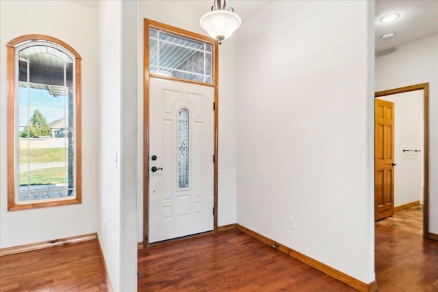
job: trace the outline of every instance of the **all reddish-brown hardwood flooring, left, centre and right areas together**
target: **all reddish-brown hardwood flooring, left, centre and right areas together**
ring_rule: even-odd
[[[438,241],[399,227],[376,224],[378,291],[438,292]],[[238,230],[139,250],[138,270],[138,291],[355,291]],[[1,256],[0,291],[107,291],[97,242]]]

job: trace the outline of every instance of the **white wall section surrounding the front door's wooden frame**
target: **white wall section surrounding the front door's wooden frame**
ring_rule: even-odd
[[[206,1],[139,1],[138,64],[143,64],[143,18],[206,35],[199,19],[208,12]],[[236,36],[219,48],[219,163],[218,226],[236,220]],[[138,66],[138,241],[143,241],[143,67]]]

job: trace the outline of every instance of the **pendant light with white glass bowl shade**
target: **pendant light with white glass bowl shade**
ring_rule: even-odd
[[[219,44],[231,36],[240,27],[240,23],[240,17],[234,13],[234,9],[227,9],[226,0],[224,0],[223,5],[221,0],[214,0],[211,11],[204,14],[199,21],[201,27],[207,31],[211,38],[216,38]]]

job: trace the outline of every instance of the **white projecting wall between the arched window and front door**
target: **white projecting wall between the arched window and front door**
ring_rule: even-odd
[[[99,239],[114,291],[137,289],[137,3],[99,1]],[[116,161],[114,161],[116,160]]]

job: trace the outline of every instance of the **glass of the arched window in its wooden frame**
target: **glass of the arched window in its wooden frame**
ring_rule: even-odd
[[[74,196],[74,60],[44,45],[18,53],[18,201]]]

